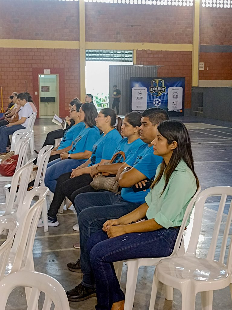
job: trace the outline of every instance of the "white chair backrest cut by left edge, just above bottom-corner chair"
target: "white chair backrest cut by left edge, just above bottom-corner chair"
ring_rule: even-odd
[[[3,279],[6,262],[11,250],[12,243],[14,241],[15,233],[19,228],[19,223],[13,218],[0,219],[0,235],[7,229],[8,234],[6,240],[0,246],[0,280]]]

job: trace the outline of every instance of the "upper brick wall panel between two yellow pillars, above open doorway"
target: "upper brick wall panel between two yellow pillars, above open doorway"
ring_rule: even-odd
[[[192,43],[193,7],[86,2],[86,41]]]

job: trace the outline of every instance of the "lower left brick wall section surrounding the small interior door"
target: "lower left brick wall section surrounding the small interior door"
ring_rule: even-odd
[[[51,73],[56,73],[56,69],[63,69],[62,96],[64,102],[60,102],[60,111],[63,111],[62,117],[66,116],[63,113],[65,110],[68,111],[70,100],[80,96],[79,50],[0,48],[0,58],[0,81],[5,107],[7,97],[13,91],[26,90],[25,80],[27,80],[27,90],[32,94],[38,107],[38,97],[33,91],[38,85],[32,83],[32,70],[34,68],[51,69]],[[40,73],[43,74],[43,71]]]

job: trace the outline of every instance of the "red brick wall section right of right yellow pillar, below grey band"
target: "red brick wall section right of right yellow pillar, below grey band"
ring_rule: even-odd
[[[205,70],[199,70],[199,80],[232,80],[232,53],[200,53],[200,62]]]

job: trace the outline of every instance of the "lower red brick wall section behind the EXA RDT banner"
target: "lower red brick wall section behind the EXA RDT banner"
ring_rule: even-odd
[[[158,77],[184,77],[184,106],[191,107],[192,52],[137,51],[137,64],[163,65]]]

